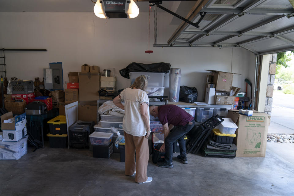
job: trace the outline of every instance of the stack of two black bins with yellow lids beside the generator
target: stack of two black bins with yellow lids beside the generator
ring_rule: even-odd
[[[67,148],[67,126],[66,117],[63,115],[56,116],[47,122],[49,124],[50,133],[49,137],[50,148]]]

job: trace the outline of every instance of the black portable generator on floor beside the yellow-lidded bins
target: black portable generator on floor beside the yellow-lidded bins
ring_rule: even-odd
[[[78,120],[69,127],[69,146],[71,148],[89,148],[89,135],[94,131],[94,121]]]

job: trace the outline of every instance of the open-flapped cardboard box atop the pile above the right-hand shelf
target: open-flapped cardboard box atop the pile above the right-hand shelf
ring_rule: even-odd
[[[229,92],[231,90],[234,73],[221,72],[216,70],[206,71],[211,72],[211,75],[213,76],[213,84],[215,84],[216,91]]]

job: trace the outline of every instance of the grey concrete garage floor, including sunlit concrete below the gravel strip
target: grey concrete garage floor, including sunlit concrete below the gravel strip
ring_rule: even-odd
[[[287,149],[287,151],[285,151]],[[119,153],[93,158],[87,149],[45,147],[20,160],[0,161],[0,195],[293,195],[294,145],[267,143],[266,157],[208,158],[159,168],[150,156],[151,183],[124,175]],[[282,153],[281,153],[282,152]]]

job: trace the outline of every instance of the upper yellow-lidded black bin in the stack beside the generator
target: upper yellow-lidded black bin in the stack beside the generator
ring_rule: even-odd
[[[50,134],[67,134],[66,117],[59,115],[47,122]]]

